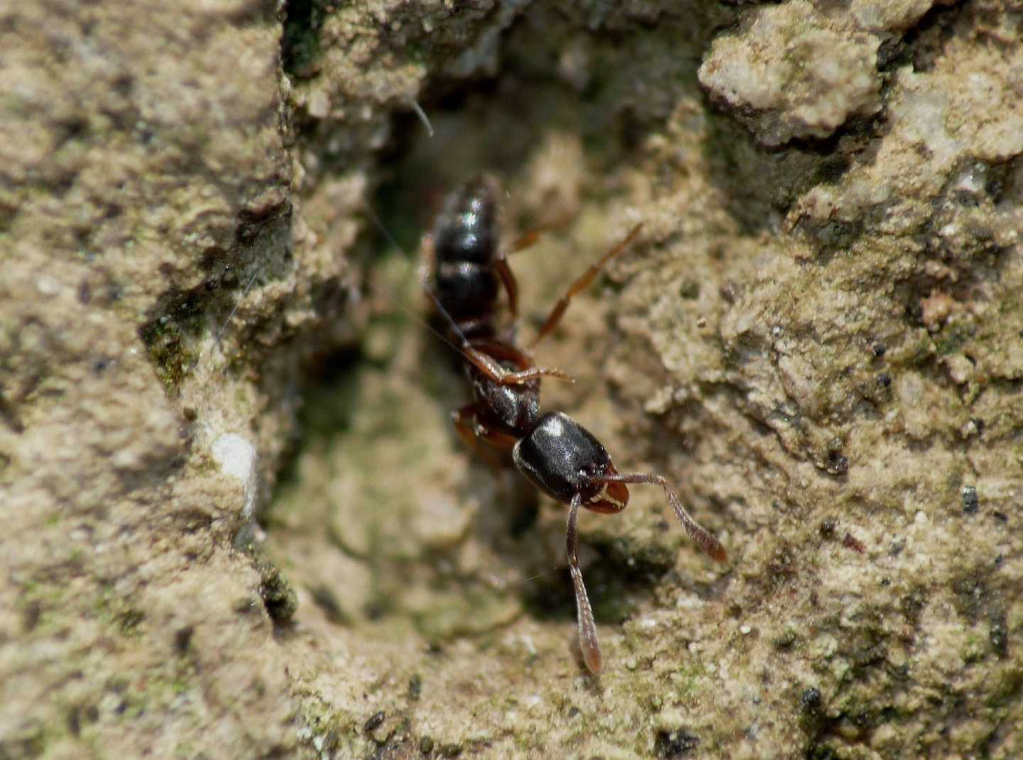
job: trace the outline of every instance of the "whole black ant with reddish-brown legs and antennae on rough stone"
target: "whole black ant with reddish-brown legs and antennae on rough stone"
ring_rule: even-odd
[[[660,475],[619,473],[599,441],[561,411],[540,413],[540,377],[571,381],[560,369],[539,367],[519,348],[514,332],[496,325],[499,288],[504,287],[511,316],[518,316],[518,284],[498,245],[496,187],[479,177],[447,198],[433,235],[424,238],[433,282],[428,293],[446,320],[448,339],[465,359],[473,403],[453,413],[458,434],[472,447],[481,444],[510,450],[520,473],[551,498],[569,505],[566,549],[575,590],[579,643],[586,667],[598,676],[603,666],[593,611],[579,569],[579,507],[604,515],[619,512],[629,501],[627,484],[652,484],[664,489],[678,521],[696,543],[714,560],[724,562],[724,547],[685,510]],[[586,288],[597,272],[625,251],[639,234],[636,225],[558,301],[530,345],[535,346],[561,321],[572,298]],[[531,244],[530,233],[511,247]]]

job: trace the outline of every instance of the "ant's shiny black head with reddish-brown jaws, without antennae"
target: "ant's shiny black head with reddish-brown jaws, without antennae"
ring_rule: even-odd
[[[629,492],[623,483],[599,483],[594,478],[615,475],[607,449],[593,434],[560,411],[548,412],[511,451],[516,466],[526,479],[559,501],[575,494],[593,511],[625,508]]]

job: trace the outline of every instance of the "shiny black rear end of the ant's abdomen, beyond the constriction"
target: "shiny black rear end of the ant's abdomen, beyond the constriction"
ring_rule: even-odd
[[[490,264],[497,252],[497,199],[485,177],[452,192],[437,221],[434,245],[438,265],[446,262]]]

